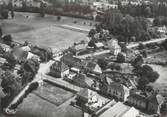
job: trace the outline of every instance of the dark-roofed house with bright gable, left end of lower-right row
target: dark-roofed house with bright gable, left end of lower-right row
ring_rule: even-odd
[[[108,85],[107,93],[120,101],[126,101],[129,89],[121,83],[112,82]]]

